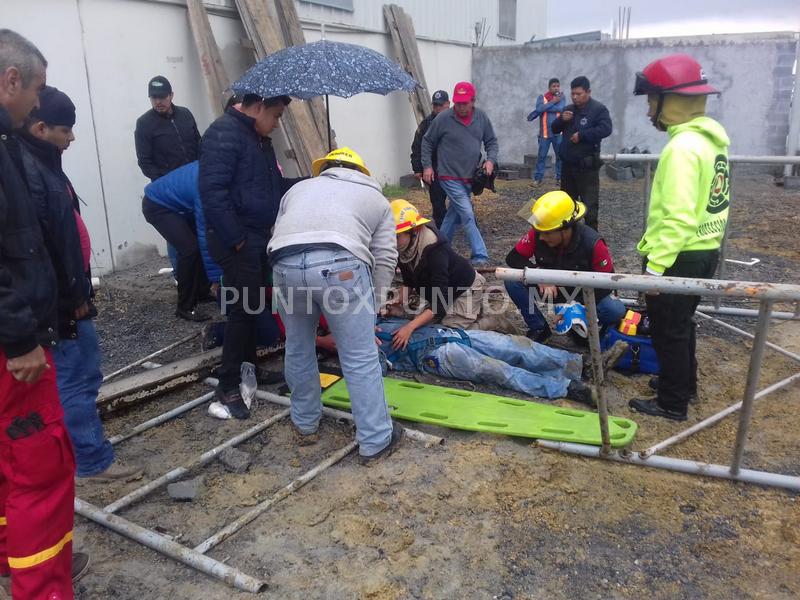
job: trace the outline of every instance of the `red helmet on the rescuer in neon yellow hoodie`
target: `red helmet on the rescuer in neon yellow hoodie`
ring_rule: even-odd
[[[670,54],[654,60],[636,74],[633,93],[679,94],[681,96],[707,96],[720,92],[708,85],[705,73],[688,54]]]

